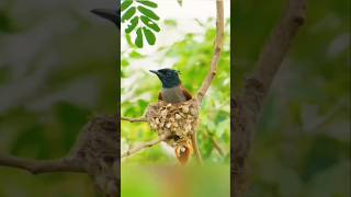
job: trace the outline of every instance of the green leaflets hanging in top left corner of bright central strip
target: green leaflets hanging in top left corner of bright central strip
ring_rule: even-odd
[[[158,5],[149,0],[123,0],[121,4],[122,23],[127,23],[125,28],[126,34],[135,33],[134,44],[143,48],[144,40],[149,45],[155,45],[155,33],[160,32],[157,24],[159,16],[152,11]],[[145,38],[144,38],[145,36]]]

